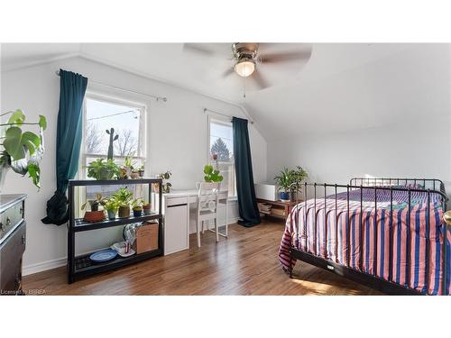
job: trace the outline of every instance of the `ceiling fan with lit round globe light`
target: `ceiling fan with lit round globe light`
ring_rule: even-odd
[[[183,48],[193,51],[198,54],[212,56],[214,54],[225,55],[224,49],[215,49],[208,43],[185,43]],[[223,44],[216,44],[223,45]],[[261,89],[271,87],[269,81],[264,75],[265,70],[262,65],[278,65],[283,62],[299,61],[305,63],[311,55],[311,47],[302,48],[298,50],[286,50],[281,52],[274,52],[274,49],[279,49],[278,43],[256,43],[256,42],[235,42],[232,44],[232,67],[226,69],[222,74],[223,78],[227,78],[235,73],[242,78],[250,78]],[[296,44],[291,44],[296,45]],[[269,50],[269,51],[261,51]],[[225,55],[226,56],[226,55]]]

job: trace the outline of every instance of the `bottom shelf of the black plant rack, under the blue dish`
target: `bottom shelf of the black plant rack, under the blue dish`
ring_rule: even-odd
[[[123,267],[124,265],[129,265],[137,263],[142,260],[148,260],[153,257],[162,256],[163,251],[162,249],[158,249],[154,251],[143,252],[140,254],[134,254],[133,256],[130,257],[121,257],[117,255],[117,257],[114,260],[108,260],[103,263],[95,263],[89,260],[89,256],[91,255],[91,253],[75,257],[74,277],[93,275],[98,272],[105,272],[111,269]]]

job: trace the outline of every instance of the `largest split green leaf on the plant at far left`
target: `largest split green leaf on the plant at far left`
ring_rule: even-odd
[[[4,147],[12,160],[22,160],[26,151],[32,155],[41,144],[38,135],[33,132],[22,132],[19,127],[11,127],[6,130]]]

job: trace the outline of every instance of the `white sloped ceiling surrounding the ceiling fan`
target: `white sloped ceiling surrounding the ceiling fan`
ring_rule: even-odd
[[[442,96],[424,95],[428,86],[448,86],[447,45],[262,44],[262,52],[311,52],[302,61],[262,64],[262,74],[273,84],[262,90],[235,74],[222,77],[233,66],[231,43],[201,46],[209,52],[193,52],[183,43],[2,44],[2,69],[73,55],[94,59],[244,105],[267,139],[371,128],[401,121],[407,109],[418,118],[441,114],[447,104]]]

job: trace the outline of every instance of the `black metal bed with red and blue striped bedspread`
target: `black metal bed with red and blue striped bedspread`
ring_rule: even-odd
[[[449,295],[442,181],[353,178],[349,185],[295,184],[290,196],[279,249],[290,277],[304,260],[386,294]]]

